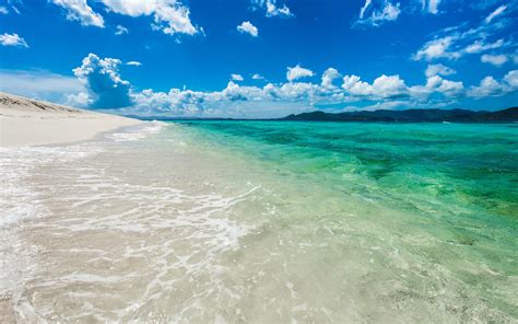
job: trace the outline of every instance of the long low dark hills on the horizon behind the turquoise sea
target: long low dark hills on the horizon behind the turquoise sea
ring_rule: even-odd
[[[307,121],[388,121],[388,123],[513,123],[518,121],[518,107],[497,112],[473,112],[468,109],[407,109],[325,113],[313,112],[290,115],[276,120]]]

